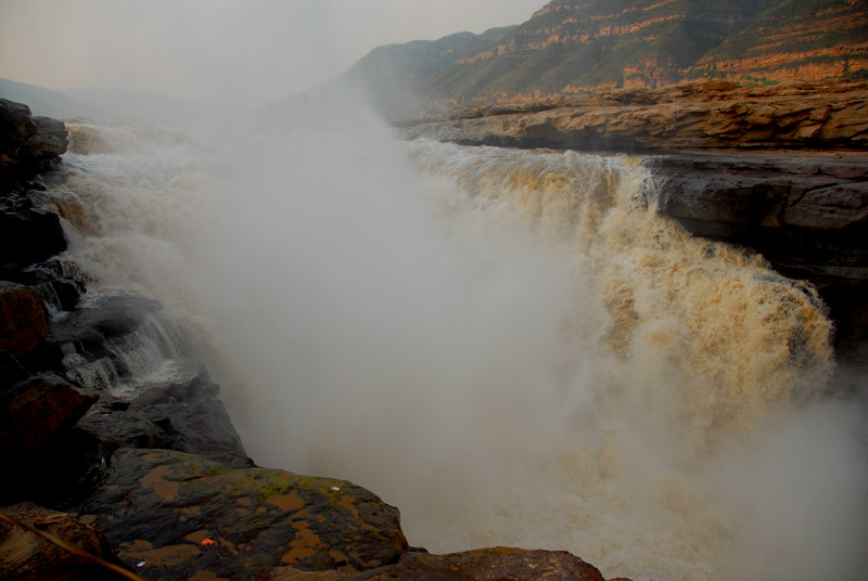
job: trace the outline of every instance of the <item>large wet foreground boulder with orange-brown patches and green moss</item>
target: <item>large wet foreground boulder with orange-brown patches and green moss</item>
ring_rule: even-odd
[[[246,580],[281,565],[356,572],[407,550],[397,509],[360,487],[166,450],[115,453],[79,518],[153,579]]]

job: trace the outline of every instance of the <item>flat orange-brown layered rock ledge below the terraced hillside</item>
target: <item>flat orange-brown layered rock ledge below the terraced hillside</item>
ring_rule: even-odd
[[[459,107],[404,128],[468,145],[658,153],[868,150],[868,82],[681,83]]]

